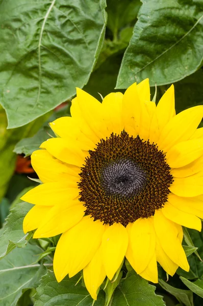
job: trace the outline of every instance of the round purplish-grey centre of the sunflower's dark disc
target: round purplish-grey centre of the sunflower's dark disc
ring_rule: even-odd
[[[136,195],[145,185],[147,175],[139,165],[128,159],[108,164],[101,172],[102,186],[107,195]]]

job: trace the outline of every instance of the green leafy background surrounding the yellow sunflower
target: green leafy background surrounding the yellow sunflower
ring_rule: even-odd
[[[32,206],[19,198],[38,183],[15,172],[17,154],[30,156],[48,122],[70,115],[75,87],[100,99],[149,78],[157,100],[174,84],[177,112],[202,104],[203,0],[0,0],[0,25],[0,304],[89,306],[80,273],[56,281],[59,237],[22,232]],[[94,305],[202,305],[203,234],[185,230],[184,245],[189,272],[167,279],[159,267],[155,287],[125,262]]]

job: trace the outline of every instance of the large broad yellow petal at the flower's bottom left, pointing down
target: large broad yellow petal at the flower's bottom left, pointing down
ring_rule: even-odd
[[[58,282],[69,273],[69,277],[84,269],[98,249],[105,225],[90,216],[62,234],[54,255],[54,272]]]

